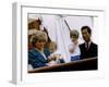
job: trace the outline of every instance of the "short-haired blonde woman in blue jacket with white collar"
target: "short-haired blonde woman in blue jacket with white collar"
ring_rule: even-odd
[[[45,49],[47,41],[47,34],[41,30],[37,30],[37,33],[32,37],[32,45],[34,48],[28,50],[28,64],[31,64],[33,69],[47,66],[48,62],[56,60],[56,58],[48,59],[50,52]]]

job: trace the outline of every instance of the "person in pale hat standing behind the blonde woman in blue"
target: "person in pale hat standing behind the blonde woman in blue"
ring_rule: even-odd
[[[28,18],[28,49],[32,49],[33,46],[29,44],[31,37],[36,34],[37,30],[45,32],[47,34],[48,41],[45,45],[45,48],[48,48],[49,42],[51,41],[48,30],[45,28],[45,26],[41,25],[40,18]]]

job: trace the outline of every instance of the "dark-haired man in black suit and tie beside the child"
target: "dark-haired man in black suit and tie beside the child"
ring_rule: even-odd
[[[80,45],[81,49],[81,59],[94,58],[97,57],[97,45],[94,44],[90,39],[92,29],[89,26],[83,26],[81,28],[84,44]]]

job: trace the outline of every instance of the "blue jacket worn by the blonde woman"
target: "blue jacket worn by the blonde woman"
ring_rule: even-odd
[[[50,54],[47,49],[44,50],[44,53],[46,58]],[[28,51],[28,64],[31,64],[33,69],[46,66],[46,63],[48,63],[48,60],[46,60],[40,52],[35,49]]]

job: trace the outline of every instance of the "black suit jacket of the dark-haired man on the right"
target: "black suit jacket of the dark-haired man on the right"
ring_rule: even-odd
[[[98,46],[94,42],[90,44],[88,50],[85,48],[85,42],[80,45],[81,59],[94,58],[98,55]]]

